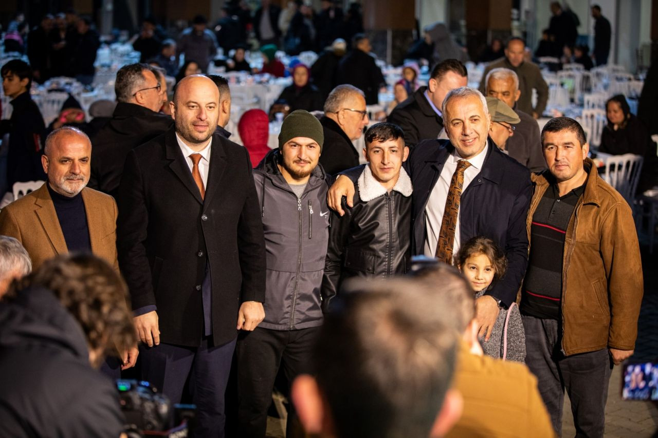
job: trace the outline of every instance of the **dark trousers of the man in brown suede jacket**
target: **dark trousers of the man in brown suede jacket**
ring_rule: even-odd
[[[605,403],[613,363],[608,349],[565,356],[559,321],[522,315],[526,331],[526,365],[538,379],[553,428],[561,435],[565,389],[569,394],[576,437],[603,437]]]

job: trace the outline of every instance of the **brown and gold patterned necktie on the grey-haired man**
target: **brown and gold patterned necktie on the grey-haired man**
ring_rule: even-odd
[[[467,160],[459,160],[457,162],[457,169],[450,181],[448,197],[445,199],[445,210],[443,210],[439,241],[436,243],[436,257],[447,264],[452,264],[452,250],[453,245],[455,245],[459,201],[461,200],[461,189],[464,186],[464,171],[468,167],[470,167],[470,162]]]

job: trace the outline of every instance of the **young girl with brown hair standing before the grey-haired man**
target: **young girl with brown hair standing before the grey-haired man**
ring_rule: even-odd
[[[493,282],[500,280],[507,268],[505,254],[487,237],[468,240],[457,253],[455,263],[475,291],[476,299],[482,297]],[[526,337],[519,306],[513,303],[509,309],[501,308],[489,341],[482,338],[480,342],[488,356],[523,363]]]

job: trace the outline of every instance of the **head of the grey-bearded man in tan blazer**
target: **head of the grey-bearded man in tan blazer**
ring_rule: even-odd
[[[84,132],[64,126],[46,137],[41,165],[51,189],[60,195],[74,197],[86,187],[90,164],[91,141]]]

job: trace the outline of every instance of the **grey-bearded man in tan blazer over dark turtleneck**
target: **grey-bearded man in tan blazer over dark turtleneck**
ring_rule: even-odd
[[[35,270],[48,258],[80,252],[104,258],[118,272],[116,202],[86,187],[90,161],[91,141],[82,131],[51,132],[41,156],[48,181],[0,212],[0,234],[22,243]],[[136,348],[124,353],[121,368],[134,366],[137,354]],[[103,370],[118,378],[118,365]]]

